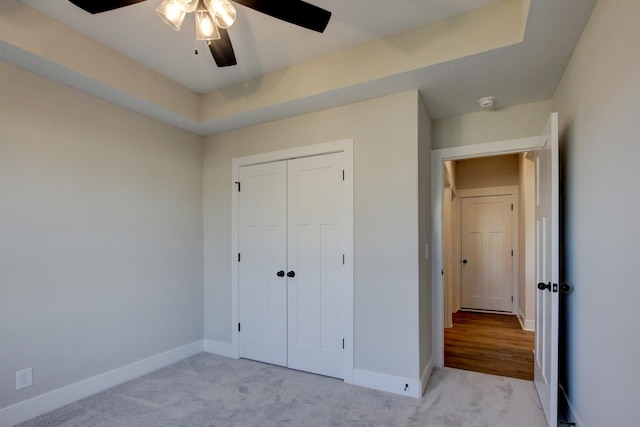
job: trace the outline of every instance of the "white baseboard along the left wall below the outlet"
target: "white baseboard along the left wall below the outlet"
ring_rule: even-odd
[[[0,409],[0,427],[11,427],[108,388],[202,353],[202,340],[139,360]]]

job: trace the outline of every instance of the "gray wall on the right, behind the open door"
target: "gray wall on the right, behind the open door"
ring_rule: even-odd
[[[639,17],[637,0],[600,0],[553,97],[575,286],[561,381],[581,426],[638,424]]]

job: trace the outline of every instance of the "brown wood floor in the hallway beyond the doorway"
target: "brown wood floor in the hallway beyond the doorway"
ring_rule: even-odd
[[[534,335],[516,316],[459,311],[444,330],[444,364],[533,381]]]

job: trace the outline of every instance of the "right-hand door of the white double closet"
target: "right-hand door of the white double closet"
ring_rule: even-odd
[[[343,153],[291,160],[288,269],[289,367],[341,377]]]

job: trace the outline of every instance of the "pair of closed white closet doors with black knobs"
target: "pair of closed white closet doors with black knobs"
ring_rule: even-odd
[[[238,177],[240,357],[343,378],[344,153]]]

